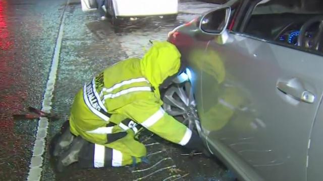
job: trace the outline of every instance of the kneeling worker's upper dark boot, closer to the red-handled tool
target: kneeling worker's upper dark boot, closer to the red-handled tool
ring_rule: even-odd
[[[58,136],[56,143],[53,143],[53,156],[58,156],[64,150],[68,149],[70,144],[73,142],[75,136],[70,132],[69,121],[66,121],[61,129],[62,134]]]

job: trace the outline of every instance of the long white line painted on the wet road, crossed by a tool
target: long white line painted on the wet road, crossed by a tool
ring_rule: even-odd
[[[65,21],[65,11],[67,8],[67,5],[69,4],[69,0],[67,1],[67,4],[65,5],[65,8],[63,10],[63,15],[61,19],[60,24],[60,30],[56,41],[56,46],[54,50],[54,54],[51,61],[51,67],[50,72],[48,75],[47,85],[45,89],[44,99],[42,102],[42,108],[41,111],[49,113],[51,111],[51,100],[52,100],[52,93],[55,88],[56,83],[56,77],[57,77],[57,69],[59,65],[60,60],[60,51],[61,51],[61,44],[63,39],[63,29],[64,29],[64,21]],[[37,127],[37,133],[36,133],[36,140],[34,143],[33,151],[32,151],[32,157],[30,160],[29,165],[29,172],[27,181],[31,180],[37,180],[39,181],[41,178],[41,172],[42,172],[42,164],[43,164],[43,154],[45,152],[46,148],[46,137],[47,137],[47,130],[48,130],[48,119],[41,117],[38,121],[38,127]]]

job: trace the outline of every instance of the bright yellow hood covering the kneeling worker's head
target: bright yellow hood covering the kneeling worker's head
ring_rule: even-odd
[[[154,86],[158,87],[168,76],[179,71],[181,54],[175,45],[163,41],[153,42],[140,61],[142,74]]]

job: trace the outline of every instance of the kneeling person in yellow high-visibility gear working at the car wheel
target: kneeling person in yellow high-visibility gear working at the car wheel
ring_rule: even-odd
[[[54,143],[58,168],[124,166],[143,161],[145,146],[135,140],[144,127],[191,150],[202,150],[197,134],[168,115],[159,86],[181,71],[181,54],[169,42],[154,42],[142,59],[106,68],[77,93],[69,122]],[[71,146],[69,146],[71,144]]]

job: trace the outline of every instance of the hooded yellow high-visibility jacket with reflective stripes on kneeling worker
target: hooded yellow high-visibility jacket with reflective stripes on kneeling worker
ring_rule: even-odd
[[[160,137],[186,145],[192,132],[161,108],[158,89],[168,76],[178,72],[180,57],[173,44],[154,42],[142,59],[129,58],[106,68],[76,95],[70,116],[71,132],[141,157],[146,154],[144,146],[127,142],[136,132],[133,122],[124,123],[131,119]],[[124,142],[110,140],[111,133],[125,131],[128,138],[120,139]]]

